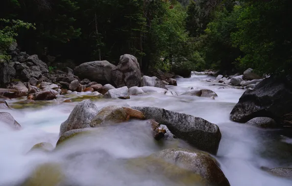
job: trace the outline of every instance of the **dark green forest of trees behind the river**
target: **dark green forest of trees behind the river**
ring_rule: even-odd
[[[44,61],[118,64],[188,76],[292,69],[291,0],[1,0],[0,60],[15,41]]]

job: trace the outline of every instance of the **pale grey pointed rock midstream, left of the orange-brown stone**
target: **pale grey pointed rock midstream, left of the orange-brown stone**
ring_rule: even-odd
[[[97,115],[97,106],[89,99],[79,102],[70,116],[60,126],[60,136],[66,131],[89,127],[90,121]]]

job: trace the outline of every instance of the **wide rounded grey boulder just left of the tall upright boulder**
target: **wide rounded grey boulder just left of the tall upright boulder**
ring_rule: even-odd
[[[74,68],[74,74],[80,79],[89,79],[102,85],[112,83],[112,69],[116,66],[108,61],[82,63]]]

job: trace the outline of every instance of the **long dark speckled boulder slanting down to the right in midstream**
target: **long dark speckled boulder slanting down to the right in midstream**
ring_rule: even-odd
[[[185,140],[200,150],[216,155],[221,140],[221,133],[216,124],[209,121],[168,111],[157,107],[131,107],[141,111],[146,119],[154,119],[166,125],[177,138]]]

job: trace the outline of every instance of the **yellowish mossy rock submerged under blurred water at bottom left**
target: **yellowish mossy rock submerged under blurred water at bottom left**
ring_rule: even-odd
[[[59,164],[44,163],[37,166],[21,186],[61,186],[64,178]]]

